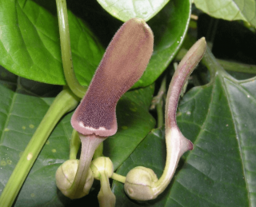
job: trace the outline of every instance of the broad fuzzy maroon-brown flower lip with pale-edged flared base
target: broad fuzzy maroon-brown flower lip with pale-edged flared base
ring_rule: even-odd
[[[86,96],[71,118],[74,129],[84,135],[101,137],[116,133],[118,100],[146,70],[153,45],[154,35],[144,20],[132,18],[122,25],[107,47]]]

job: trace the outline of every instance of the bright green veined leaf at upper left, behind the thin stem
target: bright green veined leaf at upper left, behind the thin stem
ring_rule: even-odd
[[[66,85],[57,16],[31,0],[1,1],[0,8],[0,64],[23,78]],[[102,46],[81,19],[68,14],[74,70],[89,85]]]

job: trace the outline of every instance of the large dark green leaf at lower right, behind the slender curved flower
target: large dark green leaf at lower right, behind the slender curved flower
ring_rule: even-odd
[[[190,90],[178,107],[178,125],[194,149],[182,157],[166,191],[146,202],[149,206],[256,206],[256,78],[237,81],[214,67],[211,82]],[[159,130],[150,133],[118,173],[125,176],[142,165],[159,177],[163,137]],[[116,181],[113,191],[117,206],[141,205]]]

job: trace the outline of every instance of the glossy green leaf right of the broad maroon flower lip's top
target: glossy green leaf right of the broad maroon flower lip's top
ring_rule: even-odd
[[[173,60],[186,35],[190,6],[190,0],[170,1],[147,22],[154,33],[154,53],[145,73],[134,87],[152,84]]]

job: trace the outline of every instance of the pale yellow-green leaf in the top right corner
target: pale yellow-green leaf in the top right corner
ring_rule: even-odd
[[[214,18],[229,21],[243,20],[256,27],[256,2],[254,0],[194,0],[198,9]]]

